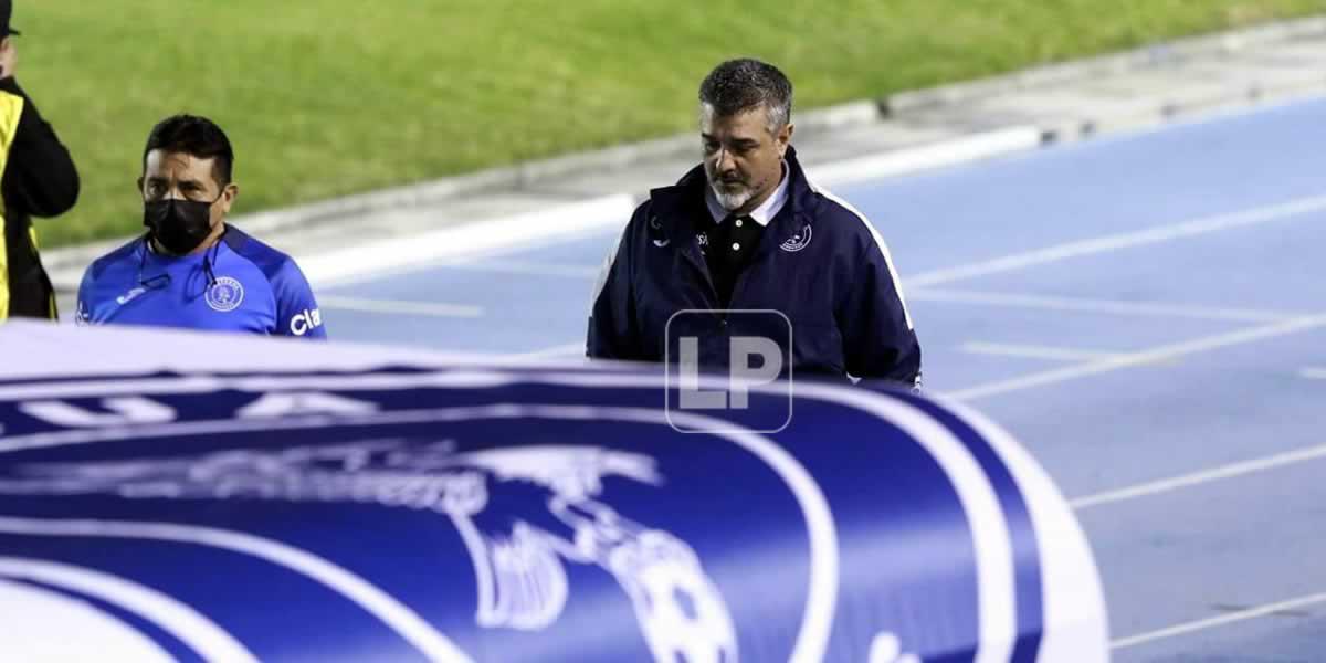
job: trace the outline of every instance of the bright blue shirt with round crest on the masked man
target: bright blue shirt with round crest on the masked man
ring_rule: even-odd
[[[77,321],[326,338],[294,260],[233,227],[198,255],[159,255],[139,237],[102,256],[84,273]]]

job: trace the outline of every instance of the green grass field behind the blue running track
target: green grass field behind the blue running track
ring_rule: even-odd
[[[778,64],[797,107],[1273,17],[1326,0],[20,0],[19,81],[84,194],[48,245],[139,228],[147,130],[235,142],[237,212],[693,127],[717,61]]]

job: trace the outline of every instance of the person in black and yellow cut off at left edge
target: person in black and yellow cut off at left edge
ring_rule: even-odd
[[[36,103],[15,78],[19,53],[0,0],[0,321],[57,317],[54,289],[41,267],[33,216],[58,216],[78,200],[78,170]]]

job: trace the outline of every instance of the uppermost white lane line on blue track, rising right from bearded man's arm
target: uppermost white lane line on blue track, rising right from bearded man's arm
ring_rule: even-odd
[[[1322,211],[1326,211],[1326,196],[1299,198],[1296,200],[1273,206],[1254,207],[1250,210],[1242,210],[1232,213],[1204,216],[1188,221],[1175,223],[1170,225],[1156,225],[1140,231],[1123,232],[1118,235],[1105,235],[1101,237],[1069,241],[1065,244],[1055,244],[1053,247],[1045,247],[1021,253],[1012,253],[993,260],[984,260],[980,263],[972,263],[967,265],[951,267],[944,269],[934,269],[930,272],[922,272],[910,278],[903,278],[903,282],[910,288],[924,288],[928,285],[949,284],[955,281],[976,278],[979,276],[989,276],[1002,272],[1025,269],[1028,267],[1058,263],[1073,257],[1091,256],[1098,253],[1111,253],[1115,251],[1132,247],[1146,247],[1150,244],[1160,244],[1187,237],[1197,237],[1201,235],[1219,231],[1246,228],[1246,227],[1260,225],[1264,223],[1278,221],[1282,219],[1292,219],[1294,216],[1302,216]]]

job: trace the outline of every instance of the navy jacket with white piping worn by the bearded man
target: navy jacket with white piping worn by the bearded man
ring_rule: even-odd
[[[737,277],[728,309],[753,313],[674,314],[723,308],[699,247],[711,223],[703,166],[656,188],[635,210],[595,284],[586,354],[658,362],[679,357],[695,335],[701,366],[729,365],[737,335],[774,339],[794,375],[833,374],[920,383],[920,345],[888,248],[866,217],[806,179],[796,151],[785,156],[788,203],[769,221]],[[668,328],[668,321],[672,326]],[[667,347],[671,338],[671,347]],[[788,365],[782,367],[788,373]]]

